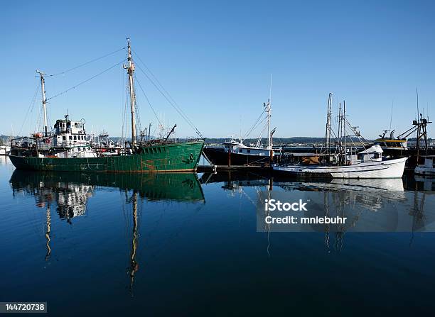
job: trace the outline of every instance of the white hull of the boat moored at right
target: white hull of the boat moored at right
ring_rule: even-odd
[[[274,170],[288,172],[296,176],[304,177],[332,177],[345,179],[376,179],[376,178],[400,178],[404,172],[407,157],[394,160],[360,162],[355,165],[344,166],[274,166]]]

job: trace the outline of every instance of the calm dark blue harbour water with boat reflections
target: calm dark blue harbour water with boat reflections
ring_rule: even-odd
[[[432,182],[39,174],[0,162],[0,301],[47,301],[50,316],[433,314]],[[271,193],[353,225],[257,232]],[[364,226],[403,232],[353,232]]]

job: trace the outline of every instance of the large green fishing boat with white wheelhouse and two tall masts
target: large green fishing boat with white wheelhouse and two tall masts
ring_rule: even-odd
[[[144,140],[144,133],[138,140],[136,131],[136,94],[134,90],[134,63],[131,57],[130,41],[127,39],[127,69],[129,103],[131,112],[131,140],[117,152],[101,152],[85,133],[85,122],[58,120],[54,132],[48,131],[45,80],[41,77],[43,104],[43,133],[33,133],[31,138],[12,140],[12,164],[17,169],[55,172],[189,172],[198,167],[203,152],[204,140],[198,129],[200,139],[180,142],[170,139],[176,125],[166,138]],[[188,121],[190,126],[193,124]],[[194,128],[194,127],[193,127]],[[108,155],[110,154],[110,155]]]

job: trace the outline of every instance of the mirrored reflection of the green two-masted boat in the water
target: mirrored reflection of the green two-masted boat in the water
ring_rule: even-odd
[[[60,219],[72,223],[72,219],[86,213],[88,199],[100,188],[117,188],[124,193],[125,204],[131,206],[132,233],[127,269],[133,294],[133,284],[139,263],[136,260],[139,247],[139,199],[147,201],[174,201],[205,203],[203,190],[195,173],[144,173],[144,174],[77,174],[68,172],[28,172],[16,169],[11,176],[14,196],[34,196],[36,206],[46,208],[45,260],[50,259],[53,228],[52,210]],[[124,208],[124,207],[123,207]]]

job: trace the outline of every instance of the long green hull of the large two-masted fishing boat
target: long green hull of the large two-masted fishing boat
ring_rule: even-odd
[[[10,155],[17,169],[55,172],[188,172],[198,167],[204,141],[140,148],[141,153],[107,157],[57,158]]]

